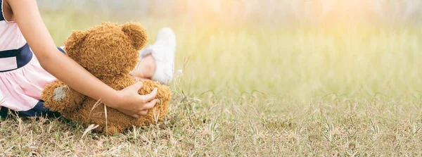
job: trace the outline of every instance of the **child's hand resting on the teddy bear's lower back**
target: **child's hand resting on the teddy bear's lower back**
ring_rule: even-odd
[[[153,89],[150,94],[139,95],[138,91],[141,87],[142,82],[137,82],[118,91],[117,98],[110,98],[110,103],[106,105],[134,118],[146,115],[148,110],[154,108],[155,103],[158,102],[158,99],[155,99],[158,89]]]

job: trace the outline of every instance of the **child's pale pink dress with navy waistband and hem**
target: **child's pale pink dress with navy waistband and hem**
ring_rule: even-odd
[[[39,115],[48,110],[39,100],[41,91],[56,78],[41,68],[18,24],[4,18],[3,1],[0,3],[0,115],[7,108]]]

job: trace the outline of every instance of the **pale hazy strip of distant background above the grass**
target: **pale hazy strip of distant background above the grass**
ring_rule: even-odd
[[[122,20],[183,18],[201,23],[420,25],[422,20],[422,2],[417,0],[39,0],[39,6],[48,11],[114,15]]]

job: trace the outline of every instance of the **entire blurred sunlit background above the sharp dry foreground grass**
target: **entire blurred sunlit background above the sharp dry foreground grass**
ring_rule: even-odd
[[[103,21],[177,34],[172,88],[196,96],[419,98],[422,1],[38,0],[56,44]]]

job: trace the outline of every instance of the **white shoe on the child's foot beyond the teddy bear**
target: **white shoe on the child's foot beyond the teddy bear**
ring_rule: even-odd
[[[158,32],[155,43],[139,52],[139,59],[151,54],[155,60],[155,73],[151,80],[158,81],[162,84],[172,82],[175,51],[176,35],[171,28],[164,27]]]

